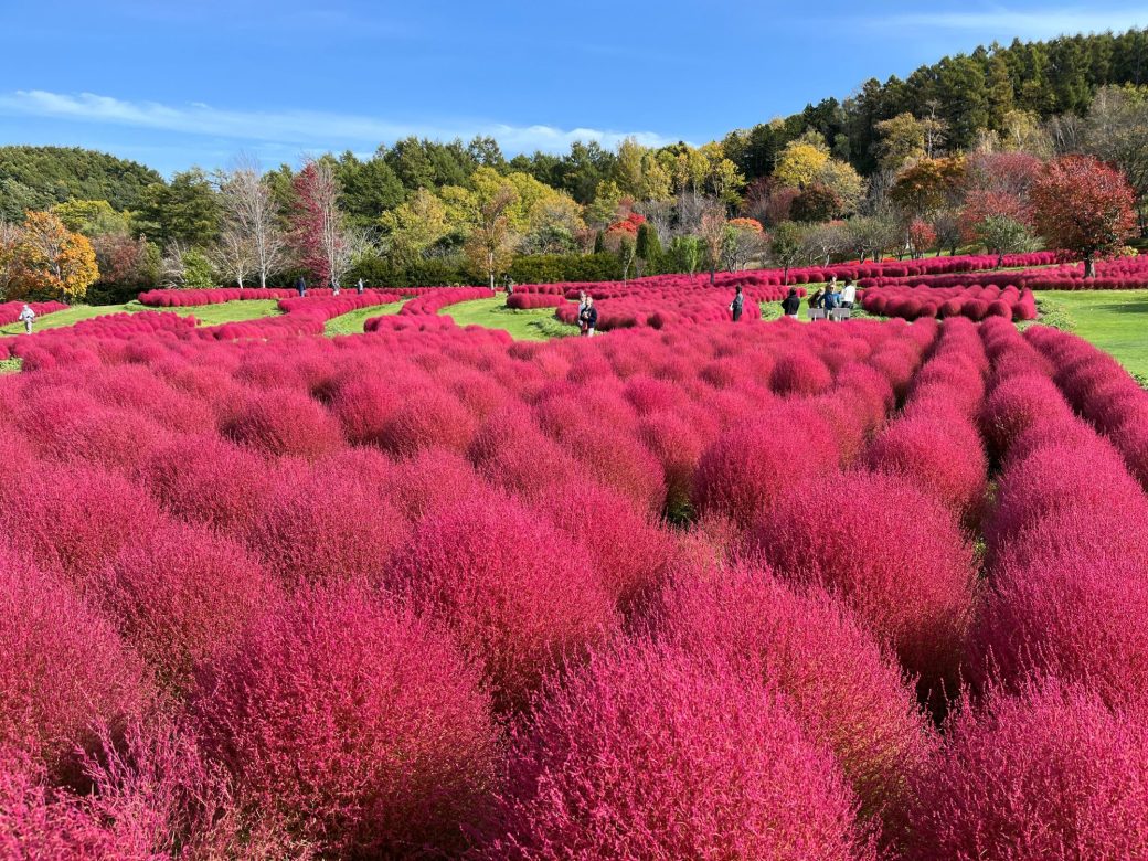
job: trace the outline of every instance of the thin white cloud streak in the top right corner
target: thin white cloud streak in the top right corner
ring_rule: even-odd
[[[1120,31],[1148,25],[1148,5],[1123,9],[1079,5],[1027,10],[993,6],[968,11],[891,15],[870,23],[883,29],[895,26],[914,32],[921,29],[961,30],[1007,37],[1018,36],[1022,39],[1048,39],[1064,34]]]

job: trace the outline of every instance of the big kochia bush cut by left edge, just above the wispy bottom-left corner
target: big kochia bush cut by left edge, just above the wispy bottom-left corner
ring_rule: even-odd
[[[68,584],[0,548],[0,748],[67,768],[142,708],[139,665]]]

